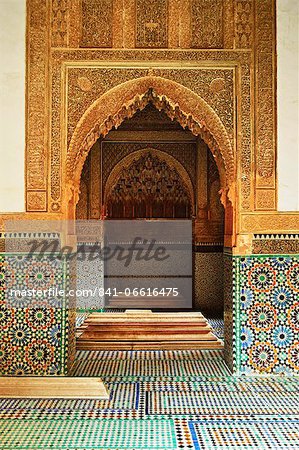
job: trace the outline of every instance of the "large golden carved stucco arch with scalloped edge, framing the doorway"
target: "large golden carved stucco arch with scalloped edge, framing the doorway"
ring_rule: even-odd
[[[185,86],[166,78],[149,76],[110,89],[87,109],[78,122],[67,153],[69,217],[75,215],[82,168],[93,144],[150,102],[206,142],[219,170],[222,202],[225,205],[229,198],[234,205],[235,158],[219,116],[205,100]]]

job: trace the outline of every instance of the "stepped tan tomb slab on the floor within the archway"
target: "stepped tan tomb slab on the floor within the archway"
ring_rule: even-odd
[[[199,312],[93,313],[78,330],[79,350],[183,350],[223,347]]]

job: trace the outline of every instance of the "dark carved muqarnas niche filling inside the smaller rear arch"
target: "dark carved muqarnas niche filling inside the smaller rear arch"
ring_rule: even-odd
[[[147,152],[124,168],[108,194],[108,216],[189,217],[190,193],[175,168]]]

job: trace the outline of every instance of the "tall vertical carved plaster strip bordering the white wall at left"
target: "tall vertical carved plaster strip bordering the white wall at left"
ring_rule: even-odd
[[[26,189],[27,209],[46,211],[49,33],[46,2],[28,4]]]

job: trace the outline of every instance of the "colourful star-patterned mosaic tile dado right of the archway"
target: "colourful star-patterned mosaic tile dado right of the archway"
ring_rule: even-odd
[[[299,373],[299,255],[232,258],[234,371]]]

